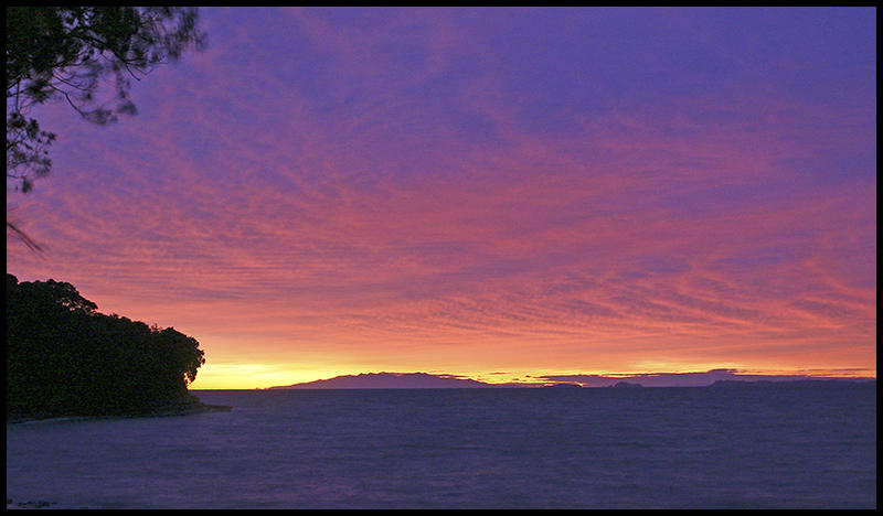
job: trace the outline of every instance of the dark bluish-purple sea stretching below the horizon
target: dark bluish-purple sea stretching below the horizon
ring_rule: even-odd
[[[8,508],[876,508],[876,384],[194,390],[7,424]]]

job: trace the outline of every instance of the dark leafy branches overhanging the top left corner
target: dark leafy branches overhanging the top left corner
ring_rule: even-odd
[[[135,115],[131,80],[201,50],[198,25],[192,7],[7,7],[7,190],[28,193],[52,169],[56,135],[31,116],[34,106],[64,100],[98,125]],[[106,83],[114,95],[99,101]],[[39,249],[9,219],[7,229]]]

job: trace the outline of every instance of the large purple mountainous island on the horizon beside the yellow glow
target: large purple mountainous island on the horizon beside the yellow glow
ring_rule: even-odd
[[[499,387],[453,375],[427,373],[363,373],[270,389],[457,389]]]

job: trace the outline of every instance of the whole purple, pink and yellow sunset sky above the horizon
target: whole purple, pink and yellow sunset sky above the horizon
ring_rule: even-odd
[[[7,206],[195,389],[876,376],[873,8],[203,8]]]

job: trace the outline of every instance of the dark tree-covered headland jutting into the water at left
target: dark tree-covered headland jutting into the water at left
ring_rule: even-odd
[[[70,283],[7,273],[7,418],[148,415],[199,405],[204,363],[171,327],[97,312]]]

